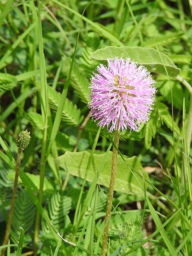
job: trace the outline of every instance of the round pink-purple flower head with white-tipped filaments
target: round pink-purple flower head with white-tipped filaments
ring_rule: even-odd
[[[113,130],[138,131],[141,123],[149,120],[154,105],[155,81],[150,72],[130,58],[108,59],[108,67],[100,64],[98,74],[91,78],[92,118],[98,125]]]

